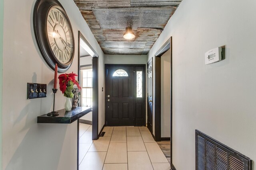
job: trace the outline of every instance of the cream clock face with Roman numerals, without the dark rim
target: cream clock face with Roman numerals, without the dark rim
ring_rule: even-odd
[[[72,31],[65,13],[58,6],[52,6],[48,11],[46,31],[55,58],[61,64],[70,63],[74,50]]]

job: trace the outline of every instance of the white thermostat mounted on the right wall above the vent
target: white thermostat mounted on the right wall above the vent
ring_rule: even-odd
[[[223,51],[222,47],[217,47],[214,49],[211,49],[205,53],[205,64],[211,64],[216,63],[218,61],[221,61],[223,59]]]

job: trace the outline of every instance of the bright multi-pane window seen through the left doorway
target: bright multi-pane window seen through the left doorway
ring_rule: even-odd
[[[81,106],[92,107],[92,68],[87,67],[81,70]]]

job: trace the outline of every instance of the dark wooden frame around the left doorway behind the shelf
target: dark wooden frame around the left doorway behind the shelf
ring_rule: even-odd
[[[90,43],[86,40],[84,35],[78,31],[78,80],[80,80],[80,38],[86,43],[88,48],[92,52],[92,92],[96,96],[93,96],[92,102],[95,106],[92,109],[92,140],[97,140],[99,138],[98,134],[98,57],[99,55],[92,48]],[[80,98],[81,101],[81,98]],[[79,103],[80,106],[80,103]],[[77,169],[79,170],[79,119],[77,121]]]

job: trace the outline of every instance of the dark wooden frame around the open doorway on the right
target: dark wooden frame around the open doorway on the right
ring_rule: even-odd
[[[170,49],[170,61],[171,61],[171,72],[170,72],[170,86],[171,86],[171,116],[170,116],[170,155],[171,155],[171,162],[170,164],[172,165],[172,37],[170,37],[162,47],[155,53],[155,86],[154,86],[154,91],[155,91],[155,96],[154,96],[154,110],[155,110],[155,140],[156,141],[161,141],[161,56]]]

